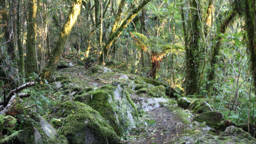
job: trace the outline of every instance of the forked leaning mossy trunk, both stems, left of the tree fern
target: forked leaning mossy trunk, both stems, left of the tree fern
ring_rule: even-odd
[[[123,1],[123,0],[122,0]],[[122,6],[122,1],[119,5],[119,9],[120,7],[123,7]],[[119,12],[122,12],[121,10],[117,12],[116,14],[116,19],[115,19],[115,22],[114,22],[114,25],[112,27],[112,30],[109,34],[109,38],[108,38],[108,41],[106,42],[105,46],[103,47],[103,52],[101,53],[100,55],[100,61],[103,60],[103,57],[106,59],[108,58],[108,51],[110,49],[110,47],[112,46],[114,40],[121,35],[122,31],[124,30],[124,28],[127,27],[127,25],[130,23],[130,21],[137,15],[137,13],[146,5],[148,4],[150,0],[143,0],[142,3],[137,7],[135,8],[131,13],[130,15],[126,18],[126,19],[123,19],[121,24],[119,25],[118,22],[121,20],[121,13],[119,14]],[[128,12],[126,13],[128,14]],[[120,16],[119,16],[120,15]]]

